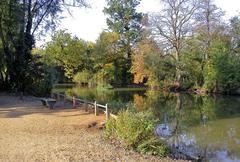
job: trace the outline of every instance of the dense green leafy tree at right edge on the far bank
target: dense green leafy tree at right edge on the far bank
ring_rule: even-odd
[[[240,57],[231,55],[229,36],[223,38],[211,47],[211,59],[204,69],[204,87],[210,92],[232,93],[240,86]]]

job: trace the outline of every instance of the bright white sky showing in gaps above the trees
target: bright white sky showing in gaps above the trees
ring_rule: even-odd
[[[69,33],[82,38],[86,41],[96,41],[99,34],[107,29],[106,15],[102,12],[106,6],[105,0],[90,0],[91,8],[73,8],[72,16],[67,12],[63,13],[65,17],[57,30],[67,29]],[[240,14],[240,0],[215,0],[215,4],[225,11],[225,18],[228,19],[234,15]],[[137,11],[157,12],[160,10],[159,0],[142,0]],[[41,41],[37,41],[37,46],[42,45],[46,41],[50,41],[48,35]]]

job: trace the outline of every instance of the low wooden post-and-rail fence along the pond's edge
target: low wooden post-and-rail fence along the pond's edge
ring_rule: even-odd
[[[60,101],[61,97],[62,97],[64,102],[66,100],[70,100],[70,101],[72,101],[73,107],[76,107],[77,102],[86,104],[87,106],[90,105],[94,108],[95,116],[99,115],[99,110],[103,110],[103,112],[106,114],[106,120],[108,120],[109,117],[112,117],[112,118],[115,118],[115,119],[117,118],[116,115],[111,114],[109,112],[109,107],[108,107],[107,103],[105,105],[102,105],[102,104],[97,103],[97,101],[90,102],[90,101],[87,101],[87,100],[76,98],[75,96],[67,96],[67,95],[61,94],[61,93],[51,93],[51,97],[56,98],[58,101]]]

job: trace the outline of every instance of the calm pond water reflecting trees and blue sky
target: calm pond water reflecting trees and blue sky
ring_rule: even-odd
[[[156,133],[170,147],[204,161],[240,162],[240,97],[163,93],[144,89],[98,91],[57,88],[79,98],[108,103],[112,112],[134,105],[152,111],[160,123]]]

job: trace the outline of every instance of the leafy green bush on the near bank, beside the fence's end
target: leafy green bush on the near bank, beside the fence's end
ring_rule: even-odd
[[[125,148],[165,156],[168,152],[167,148],[154,135],[157,123],[158,120],[151,112],[122,110],[117,120],[108,120],[105,134],[107,137],[119,140]]]

